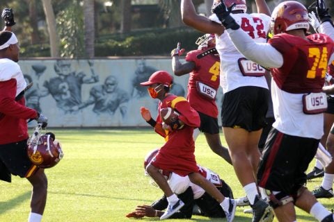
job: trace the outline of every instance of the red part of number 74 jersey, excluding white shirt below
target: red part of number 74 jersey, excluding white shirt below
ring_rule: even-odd
[[[328,59],[334,51],[334,43],[324,34],[308,35],[307,38],[305,40],[282,33],[268,41],[283,56],[283,66],[271,69],[271,74],[278,87],[285,92],[321,92],[324,86]],[[305,58],[308,58],[307,63]]]

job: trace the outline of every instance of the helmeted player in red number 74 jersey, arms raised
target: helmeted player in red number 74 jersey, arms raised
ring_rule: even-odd
[[[324,1],[317,0],[323,26],[331,28]],[[321,10],[322,11],[322,10]],[[307,35],[308,10],[298,1],[284,1],[273,10],[268,43],[255,42],[230,15],[224,3],[213,12],[228,36],[249,60],[269,67],[275,122],[264,146],[257,178],[267,190],[278,221],[296,221],[295,206],[317,221],[334,221],[306,187],[305,171],[324,134],[326,94],[322,92],[326,68],[334,60],[334,42],[321,33]],[[321,18],[322,17],[322,18]],[[324,27],[325,28],[325,27]],[[259,56],[261,52],[262,56]],[[303,153],[303,155],[301,155]]]

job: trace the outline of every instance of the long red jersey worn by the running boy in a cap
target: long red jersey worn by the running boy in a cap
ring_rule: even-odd
[[[173,108],[180,113],[179,119],[184,122],[180,130],[161,132],[162,120],[160,110],[162,108]],[[186,176],[192,172],[198,172],[195,160],[195,143],[193,142],[193,128],[200,126],[198,112],[191,108],[191,105],[184,97],[169,94],[164,101],[159,103],[157,126],[155,130],[166,138],[166,143],[159,150],[159,153],[152,160],[154,167],[162,170],[172,171],[180,176]]]

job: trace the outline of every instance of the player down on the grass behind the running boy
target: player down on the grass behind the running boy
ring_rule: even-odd
[[[159,149],[157,148],[148,153],[144,161],[145,169],[158,152]],[[233,198],[232,189],[225,181],[220,179],[218,174],[204,167],[200,167],[200,165],[198,165],[198,167],[200,168],[200,174],[211,181],[221,194]],[[225,212],[221,208],[221,205],[219,205],[212,196],[207,194],[204,189],[190,182],[188,176],[179,176],[170,171],[160,171],[160,173],[165,176],[172,191],[184,202],[184,207],[170,216],[170,219],[190,219],[193,214],[212,218],[225,218]],[[145,175],[148,176],[146,171]],[[154,182],[152,182],[152,185],[156,186]],[[152,205],[137,206],[134,212],[127,214],[127,217],[142,218],[143,216],[161,216],[164,214],[163,210],[166,209],[167,205],[168,201],[166,195],[164,195],[161,199],[154,201]]]

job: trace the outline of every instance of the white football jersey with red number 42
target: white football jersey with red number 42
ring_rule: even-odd
[[[267,33],[271,20],[269,16],[260,13],[231,14],[231,16],[240,25],[241,29],[248,33],[255,42],[267,42]],[[209,18],[221,24],[216,14],[211,15]],[[264,76],[250,77],[241,74],[238,60],[239,58],[244,58],[244,56],[237,51],[228,37],[228,33],[224,32],[221,36],[216,35],[216,49],[221,58],[221,87],[223,87],[224,93],[243,86],[256,86],[268,89],[268,84]],[[261,52],[259,52],[259,56],[261,56]]]

